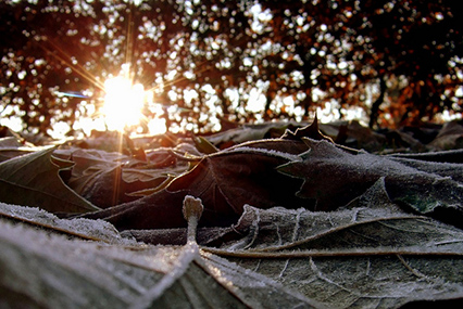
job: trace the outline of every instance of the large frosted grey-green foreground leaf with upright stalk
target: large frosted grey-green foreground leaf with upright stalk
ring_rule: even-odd
[[[103,221],[0,204],[3,218],[45,223],[52,233],[0,219],[0,287],[9,292],[2,300],[17,305],[21,294],[22,304],[46,307],[399,308],[463,297],[455,272],[462,230],[404,213],[387,198],[381,179],[331,213],[246,206],[234,227],[239,236],[221,248],[196,244],[191,226],[202,206],[191,196],[184,205],[200,208],[184,208],[190,224],[182,246],[140,244]]]

